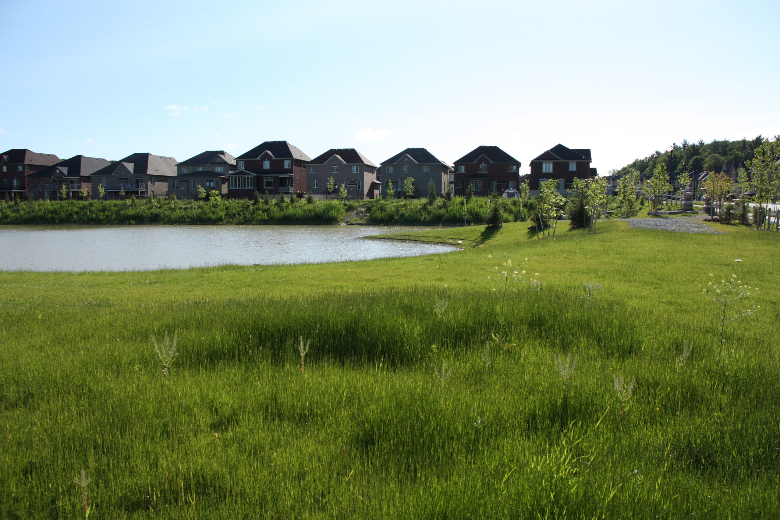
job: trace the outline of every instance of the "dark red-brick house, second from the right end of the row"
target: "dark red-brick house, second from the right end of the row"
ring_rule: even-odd
[[[455,162],[455,194],[466,193],[471,184],[475,195],[517,189],[521,163],[498,146],[478,146]]]

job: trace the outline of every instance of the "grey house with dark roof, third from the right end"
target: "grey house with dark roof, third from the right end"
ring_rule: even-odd
[[[431,181],[436,185],[435,193],[443,195],[449,187],[450,177],[455,180],[454,172],[452,166],[440,161],[425,148],[406,148],[381,162],[378,180],[385,188],[388,179],[391,180],[397,194],[403,187],[403,181],[411,177],[414,179],[415,194],[425,197]]]

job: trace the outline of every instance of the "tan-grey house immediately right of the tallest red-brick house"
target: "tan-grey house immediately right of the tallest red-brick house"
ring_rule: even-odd
[[[374,198],[380,192],[379,167],[355,148],[331,148],[307,164],[308,190],[312,194],[335,194],[343,186],[348,198]],[[328,179],[333,177],[334,191],[328,193]]]

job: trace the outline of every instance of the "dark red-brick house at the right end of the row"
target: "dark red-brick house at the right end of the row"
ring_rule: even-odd
[[[530,164],[530,191],[537,194],[539,183],[544,180],[558,180],[558,191],[563,192],[572,187],[575,179],[592,179],[596,169],[590,167],[590,148],[566,148],[556,144],[545,151]]]

